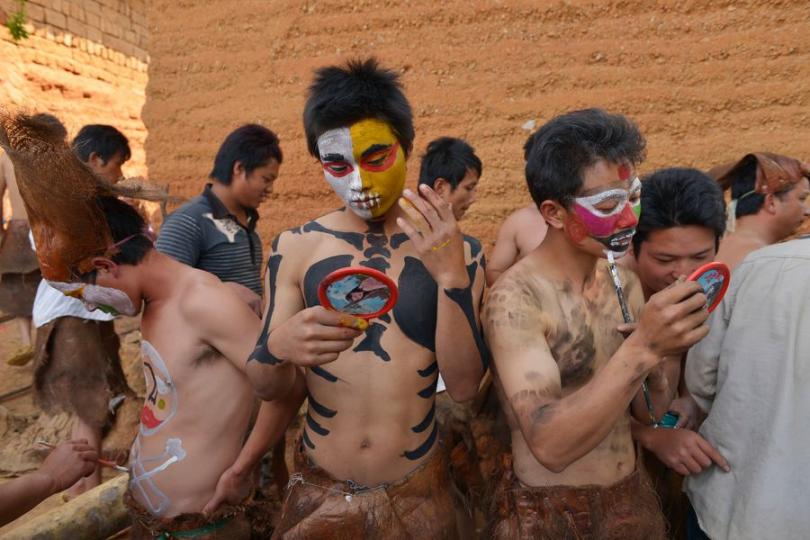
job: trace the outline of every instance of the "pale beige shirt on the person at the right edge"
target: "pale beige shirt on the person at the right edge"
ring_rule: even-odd
[[[689,352],[700,434],[731,472],[686,479],[714,540],[810,537],[810,238],[751,253]]]

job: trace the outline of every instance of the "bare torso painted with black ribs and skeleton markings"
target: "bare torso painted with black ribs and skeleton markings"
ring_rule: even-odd
[[[349,266],[383,272],[397,284],[399,297],[336,361],[307,370],[302,444],[339,479],[391,482],[421,464],[437,440],[438,287],[407,235],[386,231],[381,223],[363,232],[341,231],[330,220],[334,215],[285,233],[285,242],[300,242],[307,253],[298,272],[304,304],[317,305],[321,280]],[[470,263],[480,246],[467,239],[466,249]],[[271,256],[270,272],[280,263]],[[476,268],[471,262],[468,271]]]

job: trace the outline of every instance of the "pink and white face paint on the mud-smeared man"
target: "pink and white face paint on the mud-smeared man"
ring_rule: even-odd
[[[629,175],[629,168],[622,166],[619,172]],[[588,236],[622,255],[630,248],[641,215],[641,180],[635,177],[629,189],[614,188],[576,197],[573,211]]]

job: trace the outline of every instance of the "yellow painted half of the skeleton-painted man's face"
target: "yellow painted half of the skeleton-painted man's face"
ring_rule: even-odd
[[[379,204],[370,209],[372,218],[378,218],[388,212],[402,195],[406,174],[405,152],[391,126],[381,120],[361,120],[349,128],[349,134],[363,190],[380,197]],[[369,152],[375,147],[380,149]],[[395,155],[391,155],[392,152]]]

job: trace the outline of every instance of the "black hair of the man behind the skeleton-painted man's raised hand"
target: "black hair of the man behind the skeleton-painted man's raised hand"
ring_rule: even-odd
[[[475,149],[467,141],[453,137],[439,137],[428,143],[419,167],[419,183],[434,186],[438,178],[444,178],[453,189],[464,180],[467,171],[475,171],[481,177],[483,166],[475,155]]]

